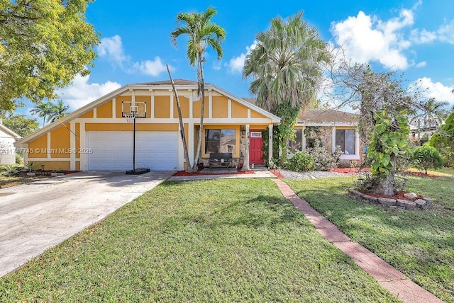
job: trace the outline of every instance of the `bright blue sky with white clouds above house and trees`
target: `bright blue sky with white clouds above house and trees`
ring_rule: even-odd
[[[259,1],[258,1],[259,2]],[[404,74],[406,84],[420,81],[425,95],[454,104],[454,1],[110,1],[89,4],[87,20],[101,33],[92,73],[59,91],[75,110],[126,84],[174,79],[196,80],[186,58],[186,39],[170,43],[179,12],[214,6],[213,21],[226,29],[223,58],[206,55],[205,80],[239,97],[248,97],[241,76],[244,57],[255,35],[270,19],[304,11],[323,40],[343,45],[348,57],[377,69]],[[22,109],[25,111],[26,109]]]

